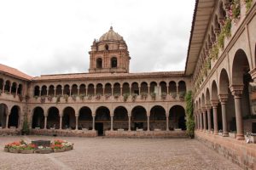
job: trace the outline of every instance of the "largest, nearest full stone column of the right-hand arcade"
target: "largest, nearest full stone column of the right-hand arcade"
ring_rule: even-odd
[[[243,132],[243,122],[242,122],[242,114],[241,114],[241,94],[243,90],[243,85],[241,86],[231,86],[230,91],[232,92],[235,99],[235,109],[236,109],[236,139],[243,140],[244,132]]]

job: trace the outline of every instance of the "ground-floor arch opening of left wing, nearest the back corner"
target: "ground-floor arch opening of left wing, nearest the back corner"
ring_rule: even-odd
[[[14,105],[9,114],[8,127],[20,127],[20,107]]]

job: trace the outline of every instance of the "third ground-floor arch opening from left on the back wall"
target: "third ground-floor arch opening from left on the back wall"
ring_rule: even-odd
[[[76,111],[71,106],[67,106],[63,110],[62,114],[62,128],[67,129],[75,129],[76,127]]]

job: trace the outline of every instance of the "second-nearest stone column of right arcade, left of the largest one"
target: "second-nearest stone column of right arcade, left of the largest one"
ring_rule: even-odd
[[[219,94],[218,99],[220,100],[220,103],[221,103],[221,112],[222,112],[222,126],[223,126],[222,136],[226,137],[226,136],[229,136],[227,114],[226,114],[226,103],[228,101],[228,94]]]

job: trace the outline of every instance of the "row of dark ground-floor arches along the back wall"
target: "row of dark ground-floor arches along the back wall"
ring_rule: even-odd
[[[5,105],[2,105],[1,108],[6,109]],[[4,114],[2,115],[4,116]],[[118,106],[113,110],[113,115],[105,106],[98,107],[95,115],[87,106],[80,108],[79,113],[76,113],[71,106],[67,106],[62,113],[60,113],[60,109],[54,106],[50,107],[47,113],[44,113],[44,109],[38,106],[34,108],[32,113],[32,128],[97,130],[98,134],[101,135],[106,130],[169,131],[185,130],[186,126],[185,111],[181,105],[173,105],[167,116],[165,109],[160,105],[152,107],[149,116],[146,109],[141,105],[135,106],[131,110],[131,114],[128,114],[124,106]]]

